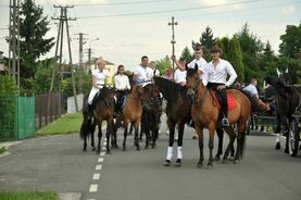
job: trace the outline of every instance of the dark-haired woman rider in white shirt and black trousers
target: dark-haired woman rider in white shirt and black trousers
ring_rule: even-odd
[[[124,74],[124,65],[118,65],[117,74],[114,77],[114,84],[116,89],[117,107],[115,109],[116,113],[120,112],[122,107],[122,98],[130,89],[129,79]]]

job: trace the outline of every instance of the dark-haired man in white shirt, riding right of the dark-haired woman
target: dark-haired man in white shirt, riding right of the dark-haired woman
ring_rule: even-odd
[[[133,79],[136,84],[150,82],[153,77],[153,70],[149,67],[149,58],[143,55],[140,65],[134,71]]]

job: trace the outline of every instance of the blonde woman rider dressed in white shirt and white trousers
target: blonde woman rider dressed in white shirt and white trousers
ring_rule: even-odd
[[[100,58],[96,62],[98,68],[92,71],[92,88],[88,97],[88,109],[92,112],[92,101],[97,92],[103,87],[104,79],[109,77],[109,71],[105,70],[105,61]]]

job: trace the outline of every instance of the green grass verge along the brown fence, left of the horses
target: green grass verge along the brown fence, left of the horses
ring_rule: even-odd
[[[65,114],[46,127],[37,132],[38,136],[46,135],[65,135],[79,133],[79,128],[83,122],[81,113]]]

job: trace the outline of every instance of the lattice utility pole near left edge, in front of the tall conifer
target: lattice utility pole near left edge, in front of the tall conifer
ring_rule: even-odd
[[[20,0],[10,0],[9,75],[20,88]]]

